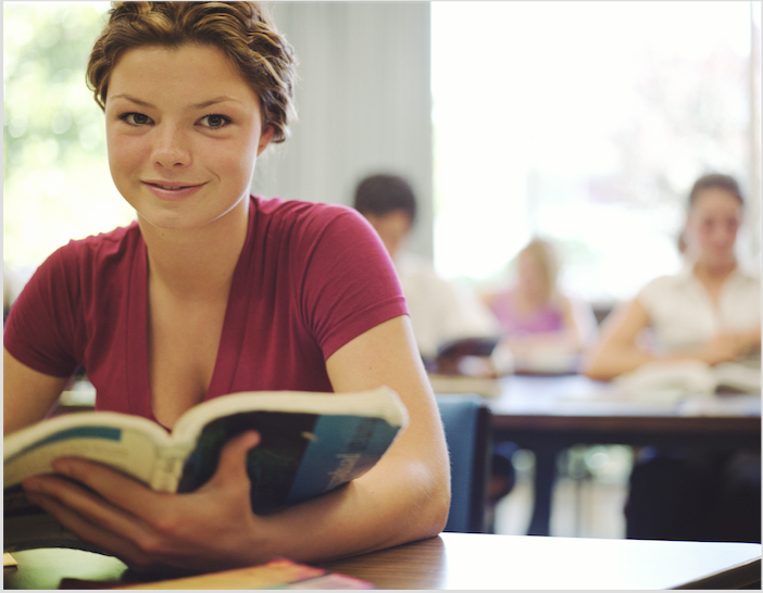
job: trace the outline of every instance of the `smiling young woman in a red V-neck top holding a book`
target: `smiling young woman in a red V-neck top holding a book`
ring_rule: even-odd
[[[287,136],[293,67],[254,2],[113,4],[88,80],[138,219],[58,250],[14,303],[5,433],[41,420],[79,365],[98,409],[168,429],[236,391],[380,384],[410,426],[363,477],[268,516],[249,503],[255,432],[191,494],[72,458],[57,462],[64,479],[25,482],[65,527],[136,568],[316,562],[427,538],[447,518],[439,415],[384,245],[350,209],[249,194],[257,157]]]

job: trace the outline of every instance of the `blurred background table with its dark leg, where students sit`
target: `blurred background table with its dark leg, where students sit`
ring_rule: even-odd
[[[536,458],[533,535],[549,534],[556,456],[572,445],[761,446],[760,396],[618,399],[610,384],[579,375],[514,375],[499,383],[500,395],[487,400],[493,438]]]

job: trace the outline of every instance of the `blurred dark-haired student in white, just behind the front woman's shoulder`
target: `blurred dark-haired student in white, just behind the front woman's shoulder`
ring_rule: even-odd
[[[438,348],[451,340],[496,333],[495,319],[476,295],[438,276],[428,260],[405,251],[417,211],[405,179],[387,174],[366,177],[355,189],[353,205],[392,257],[425,359],[434,358]]]

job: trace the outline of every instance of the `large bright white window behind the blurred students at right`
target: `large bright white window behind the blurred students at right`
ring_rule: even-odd
[[[500,282],[540,235],[560,247],[567,290],[629,298],[679,265],[685,195],[709,171],[747,190],[741,256],[756,261],[760,8],[434,2],[440,273]]]

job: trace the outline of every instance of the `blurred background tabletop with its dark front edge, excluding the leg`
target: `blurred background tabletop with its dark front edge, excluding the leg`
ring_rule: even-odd
[[[760,446],[760,395],[634,398],[580,375],[514,375],[499,384],[500,394],[486,400],[499,433],[566,437],[570,444],[687,444],[697,437]]]

